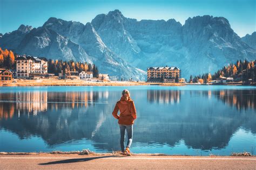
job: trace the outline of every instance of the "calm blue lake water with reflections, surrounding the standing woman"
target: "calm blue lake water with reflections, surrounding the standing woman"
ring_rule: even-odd
[[[230,155],[256,147],[255,87],[1,87],[0,152],[120,150],[112,109],[124,88],[138,115],[134,153]]]

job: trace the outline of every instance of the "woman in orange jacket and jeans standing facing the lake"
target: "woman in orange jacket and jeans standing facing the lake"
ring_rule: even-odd
[[[120,111],[120,115],[117,114],[118,110]],[[120,126],[120,145],[122,153],[130,156],[133,123],[134,119],[136,119],[136,109],[133,101],[130,98],[130,93],[128,90],[123,90],[122,97],[120,101],[117,102],[116,107],[114,107],[112,115],[118,119],[118,124]],[[126,148],[124,150],[125,129],[127,131],[128,140]]]

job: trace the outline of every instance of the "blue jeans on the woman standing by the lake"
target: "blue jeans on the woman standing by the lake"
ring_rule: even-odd
[[[126,147],[131,147],[132,144],[132,133],[133,133],[133,125],[119,125],[120,126],[120,145],[121,145],[121,151],[124,152],[124,139],[125,139],[125,129],[127,131],[127,145]]]

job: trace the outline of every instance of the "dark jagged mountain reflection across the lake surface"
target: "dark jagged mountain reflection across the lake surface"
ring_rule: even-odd
[[[174,146],[184,140],[187,147],[211,150],[227,146],[240,127],[256,134],[254,111],[238,110],[255,109],[255,90],[131,90],[131,94],[138,111],[134,141],[139,143]],[[2,93],[0,129],[21,139],[40,136],[52,147],[87,138],[95,148],[119,150],[119,128],[111,114],[119,98],[120,91]]]

